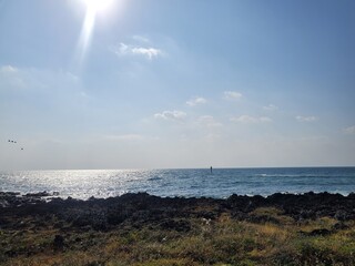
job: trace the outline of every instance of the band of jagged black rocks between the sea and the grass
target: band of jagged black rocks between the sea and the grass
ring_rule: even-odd
[[[159,224],[176,231],[186,231],[185,218],[213,221],[222,213],[233,219],[247,222],[273,222],[272,217],[255,215],[261,207],[277,208],[296,222],[331,217],[339,222],[355,219],[355,194],[347,196],[329,193],[305,193],[302,195],[276,193],[267,197],[232,195],[225,200],[206,197],[159,197],[146,193],[124,194],[118,197],[88,201],[60,198],[47,192],[20,195],[0,192],[0,228],[19,229],[41,226],[55,217],[61,224],[72,227],[91,227],[106,232],[129,224],[141,227],[146,223]],[[27,222],[26,222],[27,221]],[[176,222],[178,221],[178,222]],[[180,222],[179,222],[180,221]]]

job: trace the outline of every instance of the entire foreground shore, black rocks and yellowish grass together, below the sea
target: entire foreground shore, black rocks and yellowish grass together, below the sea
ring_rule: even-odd
[[[0,192],[1,265],[354,265],[355,194]],[[325,262],[318,264],[318,262]]]

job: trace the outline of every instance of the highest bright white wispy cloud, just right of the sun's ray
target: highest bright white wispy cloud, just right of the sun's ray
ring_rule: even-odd
[[[112,51],[118,55],[142,55],[149,60],[163,55],[163,51],[151,47],[131,45],[121,42],[118,47],[113,47]]]

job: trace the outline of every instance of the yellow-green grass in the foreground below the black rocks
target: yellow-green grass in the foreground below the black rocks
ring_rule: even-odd
[[[189,218],[191,229],[176,232],[159,224],[95,231],[0,231],[0,264],[82,266],[199,265],[355,265],[355,223],[332,218],[293,221],[276,208],[251,213],[263,222],[241,222],[223,213],[214,221]],[[265,218],[266,217],[266,218]],[[267,218],[268,217],[268,218]],[[255,219],[252,219],[255,221]],[[325,232],[325,233],[324,233]],[[62,235],[62,249],[53,247]]]

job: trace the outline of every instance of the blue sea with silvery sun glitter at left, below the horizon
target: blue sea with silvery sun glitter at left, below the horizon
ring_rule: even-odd
[[[310,191],[347,195],[355,192],[355,167],[14,171],[0,172],[0,191],[82,200],[130,192],[216,198]]]

